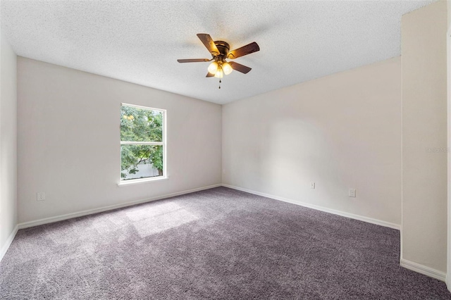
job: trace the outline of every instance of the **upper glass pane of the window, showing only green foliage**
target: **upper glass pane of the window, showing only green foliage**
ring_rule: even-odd
[[[163,142],[163,112],[121,106],[122,142]]]

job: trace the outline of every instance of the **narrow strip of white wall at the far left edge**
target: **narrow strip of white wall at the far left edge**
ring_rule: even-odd
[[[0,259],[17,224],[16,54],[0,35]]]

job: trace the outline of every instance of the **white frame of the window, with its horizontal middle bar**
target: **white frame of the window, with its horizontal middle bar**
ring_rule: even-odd
[[[128,103],[121,103],[121,106],[119,108],[119,111],[121,111],[122,106],[129,106],[129,107],[135,107],[135,108],[141,108],[141,109],[146,109],[149,111],[161,111],[161,113],[163,114],[163,122],[161,124],[162,128],[161,128],[161,142],[127,142],[127,141],[122,141],[121,139],[121,123],[119,123],[119,141],[120,141],[120,145],[156,145],[156,146],[162,146],[163,147],[163,175],[161,176],[154,176],[154,177],[145,177],[145,178],[136,178],[136,179],[129,179],[129,180],[123,180],[121,178],[121,164],[119,164],[119,183],[118,185],[132,185],[135,183],[140,183],[140,182],[152,182],[152,181],[156,181],[156,180],[163,180],[163,179],[167,179],[168,178],[168,171],[167,171],[167,164],[166,164],[166,151],[167,151],[167,143],[166,143],[166,115],[167,115],[167,111],[166,109],[162,109],[162,108],[153,108],[153,107],[148,107],[148,106],[140,106],[140,105],[135,105],[135,104],[128,104]],[[119,120],[121,121],[121,120]],[[121,152],[121,151],[120,151]],[[122,161],[122,157],[121,155],[119,156],[119,162],[121,163]]]

